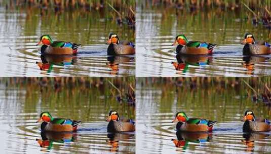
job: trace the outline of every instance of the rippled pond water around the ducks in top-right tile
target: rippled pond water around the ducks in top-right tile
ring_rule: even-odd
[[[137,5],[137,76],[263,76],[271,74],[270,55],[243,57],[241,41],[246,32],[270,42],[271,33],[252,25],[247,10],[198,11]],[[189,41],[217,44],[213,55],[176,57],[172,46],[178,34]],[[177,70],[172,63],[177,63]]]

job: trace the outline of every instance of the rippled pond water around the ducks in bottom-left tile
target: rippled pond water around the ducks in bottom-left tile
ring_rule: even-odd
[[[135,118],[134,108],[109,97],[109,90],[1,82],[2,153],[135,153],[135,133],[107,133],[105,118],[110,109],[118,110],[122,117]],[[81,120],[82,124],[75,133],[41,134],[36,121],[42,111]]]

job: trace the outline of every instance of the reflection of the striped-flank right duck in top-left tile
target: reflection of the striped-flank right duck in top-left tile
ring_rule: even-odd
[[[129,56],[107,56],[107,67],[110,68],[112,71],[110,74],[118,74],[119,72],[119,64],[123,63],[129,63],[131,61],[134,61],[134,57],[129,57]]]

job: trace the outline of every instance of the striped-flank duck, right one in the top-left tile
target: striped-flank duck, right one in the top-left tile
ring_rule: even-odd
[[[119,36],[110,33],[107,44],[107,55],[133,55],[135,54],[135,45],[129,41],[120,42]]]

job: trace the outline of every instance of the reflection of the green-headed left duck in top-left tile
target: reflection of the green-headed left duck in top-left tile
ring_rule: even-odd
[[[53,65],[73,65],[74,63],[76,63],[76,56],[42,54],[41,60],[42,62],[36,62],[37,66],[40,67],[41,70],[47,70],[47,72],[51,72],[53,69]]]

